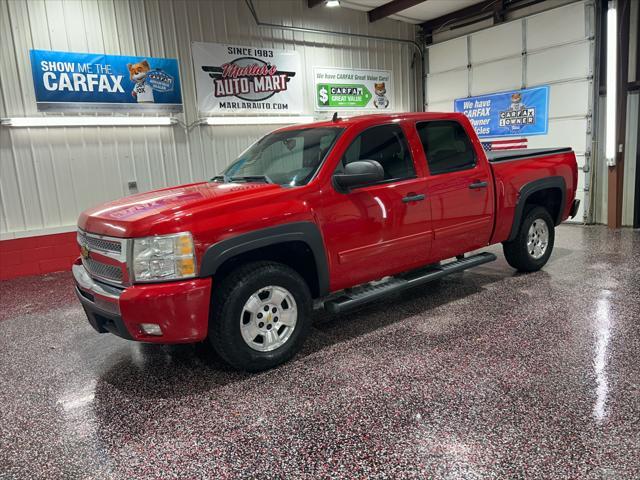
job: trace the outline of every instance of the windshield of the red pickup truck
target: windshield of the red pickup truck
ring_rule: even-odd
[[[270,133],[245,150],[215,181],[264,181],[306,185],[333,146],[341,128],[303,128]]]

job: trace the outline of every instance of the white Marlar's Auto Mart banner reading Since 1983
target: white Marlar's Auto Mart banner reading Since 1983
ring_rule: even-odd
[[[298,52],[194,42],[191,54],[201,114],[302,113]]]

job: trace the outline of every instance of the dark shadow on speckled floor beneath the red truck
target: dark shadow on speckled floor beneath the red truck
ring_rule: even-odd
[[[324,310],[315,311],[311,334],[302,351],[288,364],[270,372],[290,368],[331,345],[363,337],[411,317],[428,316],[442,305],[470,297],[508,277],[509,273],[500,266],[484,266],[372,302],[353,312],[331,315]],[[98,383],[129,398],[180,398],[269,374],[235,371],[206,343],[162,346],[128,343],[125,348],[130,351],[121,349],[114,354],[113,363]],[[96,390],[99,401],[99,388]]]

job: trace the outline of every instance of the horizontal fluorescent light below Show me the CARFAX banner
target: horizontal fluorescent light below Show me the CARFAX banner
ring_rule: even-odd
[[[110,127],[173,125],[173,117],[12,117],[3,118],[2,125],[9,127]]]

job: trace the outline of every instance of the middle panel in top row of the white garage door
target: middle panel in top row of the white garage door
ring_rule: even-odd
[[[471,63],[522,53],[522,23],[509,22],[471,35]]]

